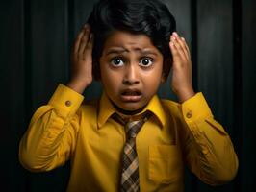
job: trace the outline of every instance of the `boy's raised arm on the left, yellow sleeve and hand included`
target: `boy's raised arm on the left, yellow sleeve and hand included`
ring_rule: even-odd
[[[66,87],[59,85],[48,105],[38,108],[19,145],[21,164],[31,171],[48,171],[63,165],[75,150],[84,97],[92,81],[92,34],[86,25],[72,51],[73,71]]]

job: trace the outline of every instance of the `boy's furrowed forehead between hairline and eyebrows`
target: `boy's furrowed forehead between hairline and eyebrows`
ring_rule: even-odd
[[[151,50],[159,52],[148,36],[131,34],[126,31],[115,31],[108,36],[103,47],[103,54],[113,48],[127,51]]]

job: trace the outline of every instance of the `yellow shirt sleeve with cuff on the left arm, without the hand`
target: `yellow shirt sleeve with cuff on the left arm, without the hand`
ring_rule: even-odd
[[[49,103],[34,113],[19,144],[19,160],[31,171],[64,165],[75,148],[79,112],[84,97],[59,84]]]

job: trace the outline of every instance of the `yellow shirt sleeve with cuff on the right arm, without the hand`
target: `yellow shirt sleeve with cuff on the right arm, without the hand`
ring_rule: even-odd
[[[185,122],[184,156],[202,181],[218,185],[232,180],[238,158],[227,132],[214,119],[202,93],[180,105]]]

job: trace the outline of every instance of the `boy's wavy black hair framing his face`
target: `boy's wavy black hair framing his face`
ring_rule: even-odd
[[[99,58],[108,36],[115,30],[148,36],[163,54],[165,79],[169,74],[172,56],[169,36],[176,29],[175,18],[159,0],[100,0],[94,5],[88,23],[94,34],[93,76],[100,79]]]

